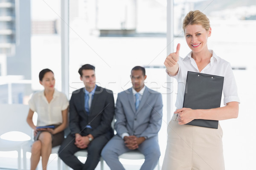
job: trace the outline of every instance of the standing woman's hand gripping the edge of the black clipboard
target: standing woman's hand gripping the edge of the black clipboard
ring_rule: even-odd
[[[177,109],[179,125],[184,125],[195,119],[195,110],[191,108]]]

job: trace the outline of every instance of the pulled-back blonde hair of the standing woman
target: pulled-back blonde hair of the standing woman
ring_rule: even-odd
[[[184,33],[186,26],[193,24],[203,26],[203,28],[205,28],[206,31],[208,31],[210,28],[209,18],[207,18],[207,16],[199,10],[190,11],[184,18],[182,26]]]

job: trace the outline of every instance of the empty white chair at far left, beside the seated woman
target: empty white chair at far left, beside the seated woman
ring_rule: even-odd
[[[19,131],[31,136],[32,131],[26,122],[26,117],[29,111],[29,106],[20,104],[0,104],[0,135],[10,131]],[[25,135],[25,136],[26,136]],[[28,137],[26,136],[26,137]],[[14,136],[12,136],[14,137]],[[18,137],[18,136],[17,136]],[[21,149],[22,145],[28,141],[10,141],[0,139],[0,151],[18,152],[17,169],[21,170]]]

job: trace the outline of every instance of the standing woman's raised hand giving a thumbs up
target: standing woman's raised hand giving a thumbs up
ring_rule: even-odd
[[[179,70],[179,54],[180,43],[177,45],[176,52],[169,54],[169,56],[166,57],[166,60],[164,62],[164,65],[166,66],[168,73],[172,76],[175,76]]]

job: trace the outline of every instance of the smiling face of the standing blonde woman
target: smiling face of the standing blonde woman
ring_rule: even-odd
[[[187,45],[194,53],[208,51],[207,39],[211,36],[211,28],[207,31],[201,25],[188,25],[184,31]]]

